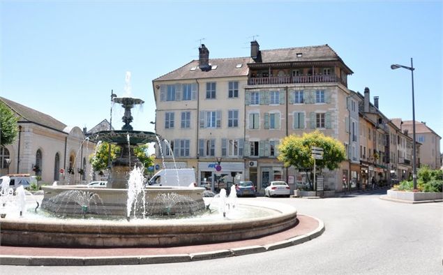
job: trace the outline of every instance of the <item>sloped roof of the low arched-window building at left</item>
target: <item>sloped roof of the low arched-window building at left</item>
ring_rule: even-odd
[[[66,128],[66,124],[63,124],[61,121],[54,119],[54,117],[51,117],[48,114],[43,114],[43,112],[38,112],[37,110],[33,110],[30,107],[10,101],[9,99],[1,96],[0,101],[3,101],[3,103],[10,107],[10,109],[20,117],[19,122],[33,122],[35,124],[61,132],[63,132],[63,129]]]

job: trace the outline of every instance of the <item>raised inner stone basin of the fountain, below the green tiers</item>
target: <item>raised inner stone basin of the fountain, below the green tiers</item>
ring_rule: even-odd
[[[64,214],[82,214],[81,205],[79,206],[75,202],[66,201],[55,201],[51,198],[63,193],[65,191],[81,191],[97,194],[100,198],[100,202],[89,207],[89,214],[93,216],[103,216],[105,218],[110,217],[120,217],[124,218],[127,216],[127,199],[128,199],[128,189],[117,189],[117,188],[88,188],[87,186],[42,186],[45,192],[45,197],[43,198],[41,207],[46,211],[53,212],[57,214],[57,211],[63,212]],[[203,191],[205,189],[202,187],[175,187],[175,186],[148,186],[144,189],[144,201],[151,203],[151,215],[162,214],[163,209],[155,207],[152,202],[155,202],[155,198],[159,194],[165,193],[177,193],[178,195],[185,196],[193,200],[193,212],[204,210],[204,201],[202,198]],[[137,200],[142,203],[142,198]],[[140,206],[142,207],[142,206]],[[153,212],[152,212],[153,211]],[[136,213],[136,216],[140,216],[140,212]],[[193,213],[190,213],[193,214]]]

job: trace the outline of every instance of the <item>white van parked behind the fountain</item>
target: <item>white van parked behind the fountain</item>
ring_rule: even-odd
[[[151,186],[191,186],[195,185],[195,171],[186,169],[163,169],[154,174],[149,180]]]

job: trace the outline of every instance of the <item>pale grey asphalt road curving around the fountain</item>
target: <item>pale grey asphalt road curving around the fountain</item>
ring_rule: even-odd
[[[162,265],[0,266],[1,274],[443,274],[443,203],[410,205],[381,193],[275,200],[324,221],[297,246],[252,255]]]

